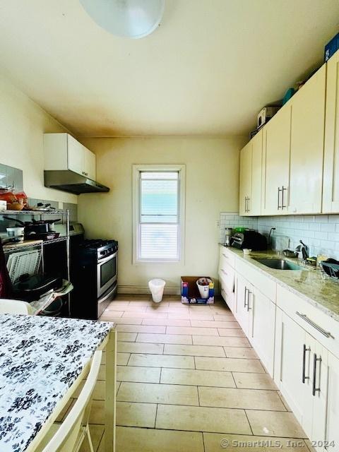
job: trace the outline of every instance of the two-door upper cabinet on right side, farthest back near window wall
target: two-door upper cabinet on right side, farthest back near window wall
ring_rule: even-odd
[[[240,215],[261,213],[261,170],[263,154],[263,131],[240,151]]]

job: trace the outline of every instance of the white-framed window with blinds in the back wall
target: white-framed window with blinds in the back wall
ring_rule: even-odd
[[[133,165],[133,261],[182,259],[184,165]]]

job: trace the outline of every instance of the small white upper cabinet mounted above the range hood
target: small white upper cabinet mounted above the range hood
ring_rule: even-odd
[[[69,133],[44,134],[44,169],[65,170],[95,180],[95,154]]]

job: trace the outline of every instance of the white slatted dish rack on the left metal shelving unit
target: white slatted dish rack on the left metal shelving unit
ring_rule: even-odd
[[[6,266],[11,282],[16,283],[22,275],[36,275],[39,272],[41,255],[41,249],[10,254]]]

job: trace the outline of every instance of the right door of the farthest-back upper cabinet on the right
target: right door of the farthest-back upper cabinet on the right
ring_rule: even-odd
[[[263,130],[251,139],[252,145],[252,173],[249,214],[261,214],[261,175],[263,165]]]

